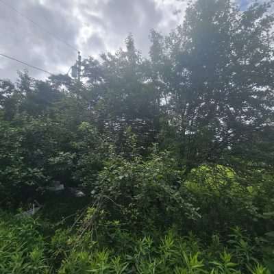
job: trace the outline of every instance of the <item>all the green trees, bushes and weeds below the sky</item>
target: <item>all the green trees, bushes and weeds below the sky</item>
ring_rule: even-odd
[[[82,82],[1,79],[0,273],[274,273],[271,5],[197,0],[149,58],[129,35]]]

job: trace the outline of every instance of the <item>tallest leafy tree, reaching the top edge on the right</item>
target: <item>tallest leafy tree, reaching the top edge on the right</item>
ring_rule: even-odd
[[[270,134],[270,8],[254,3],[242,12],[230,0],[199,0],[165,43],[153,33],[151,61],[169,98],[169,123],[176,127],[187,170],[203,162],[228,164],[225,154],[245,158],[261,134]]]

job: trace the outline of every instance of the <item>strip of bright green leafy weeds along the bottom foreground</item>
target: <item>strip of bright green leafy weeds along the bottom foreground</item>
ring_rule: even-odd
[[[226,239],[213,234],[206,242],[192,233],[179,236],[175,229],[160,238],[153,234],[134,235],[121,229],[118,222],[101,223],[98,228],[105,227],[104,232],[95,234],[93,229],[83,229],[85,218],[74,229],[68,229],[1,212],[1,273],[270,274],[273,271],[268,259],[270,242],[266,238],[250,238],[240,227],[231,229]]]

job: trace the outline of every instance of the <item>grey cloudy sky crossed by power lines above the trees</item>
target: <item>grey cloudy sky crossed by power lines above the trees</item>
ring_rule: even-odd
[[[249,1],[249,0],[242,0]],[[77,51],[45,33],[4,3],[82,52],[98,56],[123,47],[129,32],[136,47],[147,54],[149,31],[163,34],[184,18],[184,0],[0,0],[0,53],[51,73],[66,73]],[[0,56],[0,79],[16,79],[25,66]],[[32,77],[45,73],[28,69]]]

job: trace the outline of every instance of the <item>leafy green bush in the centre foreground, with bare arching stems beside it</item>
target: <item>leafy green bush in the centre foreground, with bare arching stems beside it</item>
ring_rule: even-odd
[[[182,171],[169,153],[146,161],[113,157],[92,186],[103,199],[105,215],[134,231],[184,226],[187,220],[199,219],[193,197],[184,191]]]

